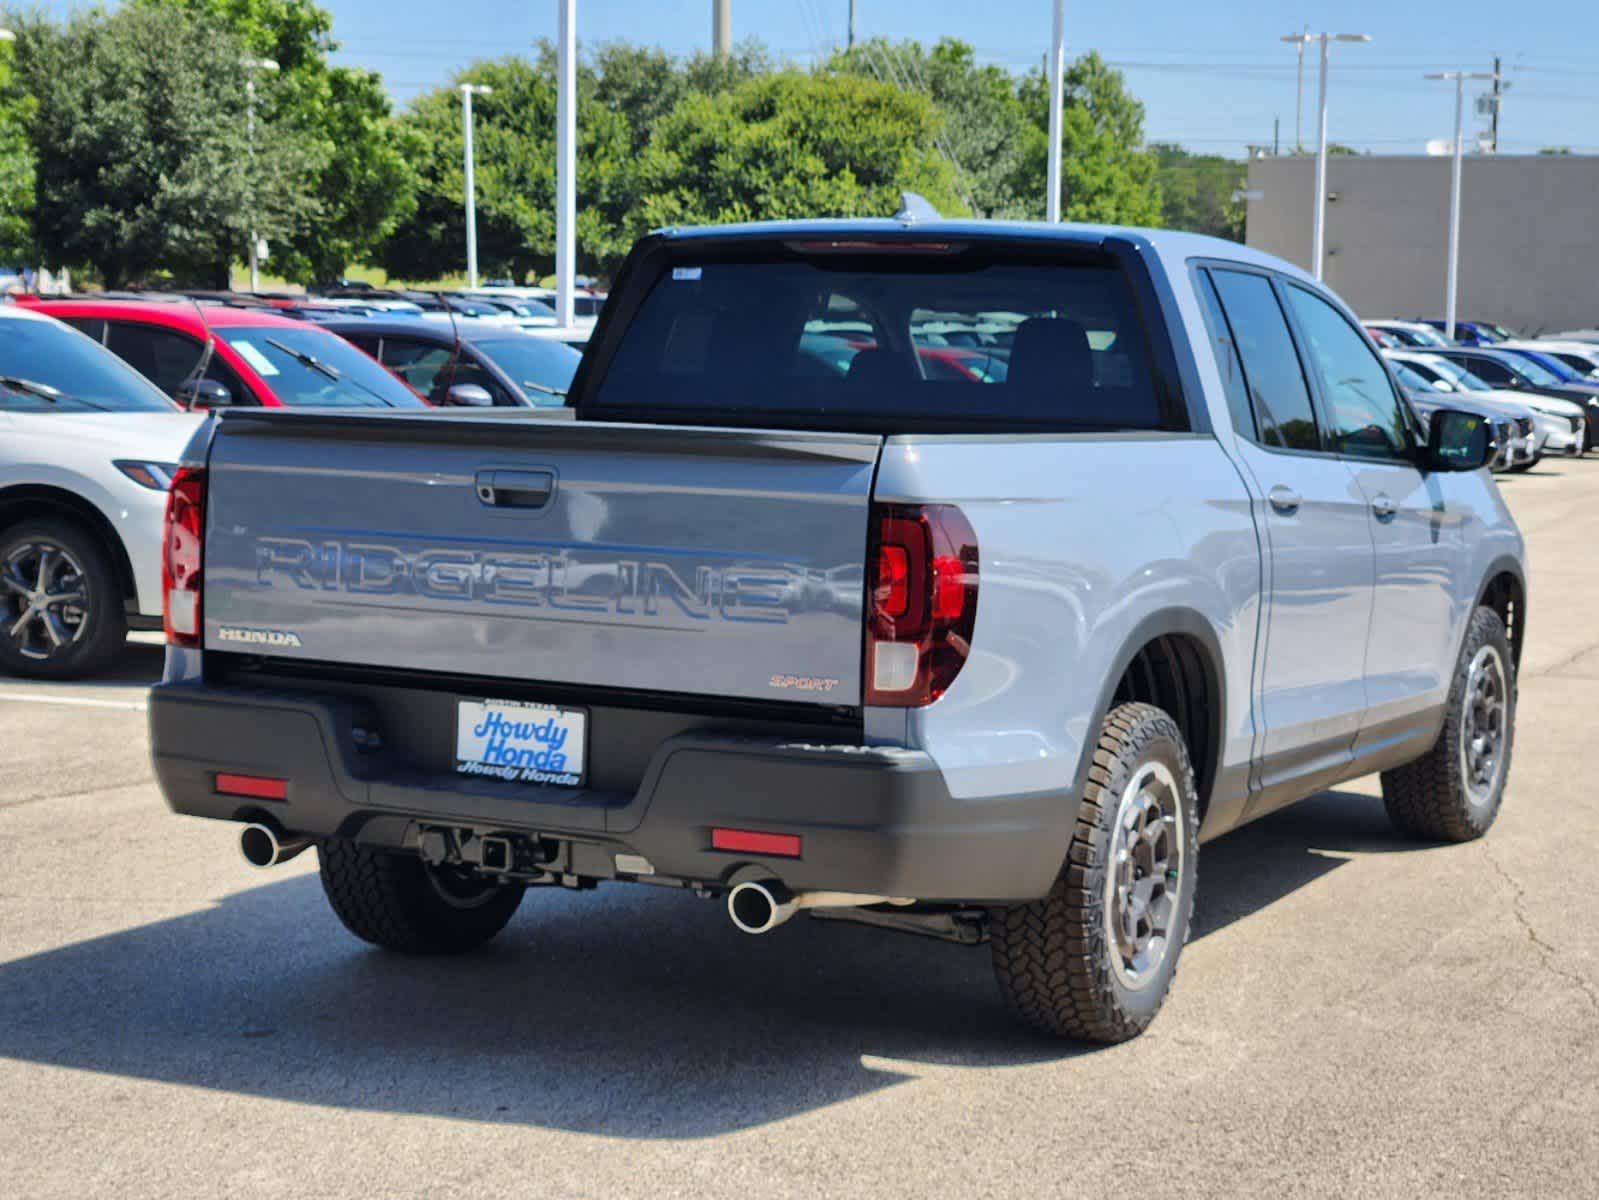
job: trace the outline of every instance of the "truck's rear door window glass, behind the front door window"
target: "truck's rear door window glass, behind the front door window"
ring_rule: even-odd
[[[1257,440],[1279,450],[1321,450],[1310,387],[1271,282],[1242,270],[1212,275],[1244,362]]]

